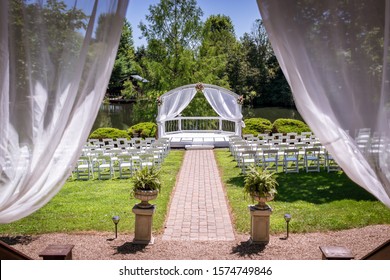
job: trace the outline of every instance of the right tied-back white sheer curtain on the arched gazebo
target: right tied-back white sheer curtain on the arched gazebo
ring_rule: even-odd
[[[244,123],[242,122],[241,107],[237,103],[238,96],[207,87],[203,90],[203,93],[211,107],[220,117],[237,123],[236,134],[241,135],[241,131],[237,130],[240,130]],[[238,125],[239,123],[240,125]]]

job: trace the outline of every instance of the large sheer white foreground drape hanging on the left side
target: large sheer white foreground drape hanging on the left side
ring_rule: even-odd
[[[0,1],[0,223],[62,187],[107,88],[128,1]]]

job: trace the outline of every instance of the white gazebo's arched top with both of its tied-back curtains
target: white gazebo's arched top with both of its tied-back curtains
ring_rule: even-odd
[[[164,130],[162,123],[175,118],[190,104],[197,93],[196,86],[197,84],[182,86],[160,96],[157,116],[160,136]],[[237,102],[239,95],[215,85],[202,84],[201,87],[206,100],[221,118],[243,125],[241,105]]]

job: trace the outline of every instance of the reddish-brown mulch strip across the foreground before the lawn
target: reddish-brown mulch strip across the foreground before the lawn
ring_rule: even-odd
[[[76,260],[319,260],[319,246],[344,246],[360,259],[390,239],[390,225],[374,225],[336,232],[290,233],[271,235],[268,245],[250,245],[249,235],[236,234],[234,241],[164,241],[155,236],[155,244],[135,245],[133,236],[114,233],[43,234],[37,236],[1,236],[17,250],[33,259],[49,244],[72,244]]]

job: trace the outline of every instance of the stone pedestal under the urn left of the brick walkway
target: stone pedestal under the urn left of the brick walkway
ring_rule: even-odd
[[[153,214],[156,211],[156,206],[151,208],[139,208],[137,205],[133,207],[135,214],[135,229],[134,229],[134,244],[153,244],[152,236]]]

